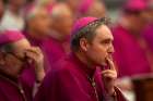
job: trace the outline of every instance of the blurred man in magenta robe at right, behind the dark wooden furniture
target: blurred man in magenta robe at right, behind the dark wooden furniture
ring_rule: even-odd
[[[122,9],[122,16],[113,27],[115,37],[115,60],[119,77],[151,73],[151,49],[144,37],[148,5],[144,0],[128,0]]]

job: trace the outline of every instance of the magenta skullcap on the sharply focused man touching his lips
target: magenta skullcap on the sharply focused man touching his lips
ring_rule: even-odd
[[[72,34],[76,34],[80,29],[82,29],[83,27],[85,27],[86,25],[89,25],[90,23],[92,23],[96,20],[98,20],[98,18],[91,17],[91,16],[79,18],[72,27]]]

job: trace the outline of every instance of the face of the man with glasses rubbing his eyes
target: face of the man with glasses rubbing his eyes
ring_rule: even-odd
[[[30,42],[26,39],[22,39],[13,43],[14,50],[12,52],[4,52],[4,64],[2,71],[13,77],[20,75],[24,70],[26,63],[25,50],[31,48]]]

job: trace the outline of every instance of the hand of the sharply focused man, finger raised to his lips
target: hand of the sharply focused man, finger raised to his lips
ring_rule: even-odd
[[[103,75],[103,80],[104,80],[104,85],[105,85],[105,89],[107,93],[109,96],[113,96],[115,92],[114,87],[115,87],[115,80],[117,79],[117,72],[116,72],[116,67],[111,58],[107,58],[106,61],[107,61],[109,70],[104,70],[102,72],[102,75]]]

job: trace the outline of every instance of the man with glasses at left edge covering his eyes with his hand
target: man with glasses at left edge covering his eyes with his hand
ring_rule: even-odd
[[[21,74],[34,64],[37,81],[42,81],[45,72],[43,53],[32,47],[19,30],[5,30],[0,35],[0,101],[32,101],[33,88],[30,79]]]

